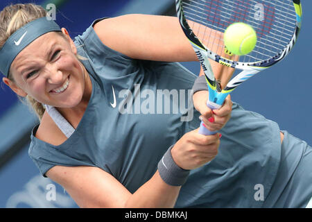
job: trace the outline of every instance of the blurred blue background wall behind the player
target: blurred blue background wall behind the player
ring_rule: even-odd
[[[10,3],[29,2],[42,6],[55,3],[56,22],[67,28],[72,37],[82,34],[99,17],[129,13],[174,15],[173,0],[1,0],[0,10]],[[302,32],[291,55],[242,84],[232,93],[232,101],[276,121],[281,130],[312,144],[312,1],[302,0],[302,6]],[[198,74],[198,62],[182,64]],[[40,176],[28,157],[30,131],[37,123],[35,114],[3,83],[0,101],[0,207],[77,207],[62,187]],[[56,200],[47,198],[51,191],[48,185],[55,185]]]

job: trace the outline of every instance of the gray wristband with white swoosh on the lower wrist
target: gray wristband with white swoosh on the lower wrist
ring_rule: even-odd
[[[182,169],[175,164],[171,155],[171,148],[173,148],[173,145],[168,148],[168,151],[166,151],[162,160],[158,162],[158,172],[166,184],[171,186],[182,186],[184,185],[184,182],[187,181],[190,171]]]

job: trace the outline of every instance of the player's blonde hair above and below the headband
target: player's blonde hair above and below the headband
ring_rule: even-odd
[[[47,12],[42,6],[35,5],[33,3],[15,4],[6,6],[0,12],[0,49],[6,40],[22,26],[32,22],[40,17],[46,17]],[[62,33],[60,33],[62,35]],[[64,37],[64,35],[62,35]],[[76,56],[79,60],[87,60],[82,56]],[[8,77],[13,83],[15,83],[12,74]],[[17,96],[19,101],[24,103],[24,99]],[[33,99],[31,96],[26,96],[27,105],[35,112],[39,120],[41,121],[45,111],[44,105],[39,101]]]

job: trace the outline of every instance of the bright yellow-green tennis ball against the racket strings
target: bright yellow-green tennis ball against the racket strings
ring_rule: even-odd
[[[225,30],[224,33],[225,47],[238,56],[250,53],[257,43],[257,33],[252,26],[243,22],[236,22]]]

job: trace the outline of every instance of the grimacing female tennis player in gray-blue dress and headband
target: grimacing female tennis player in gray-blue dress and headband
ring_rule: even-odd
[[[175,17],[97,19],[74,40],[34,4],[4,8],[0,22],[3,82],[40,117],[29,155],[80,207],[309,203],[311,147],[229,97],[212,113],[207,91],[176,62],[197,57]],[[192,87],[191,121],[182,121],[188,111],[164,112],[165,99],[177,102],[164,92]],[[198,117],[220,133],[200,135]]]

